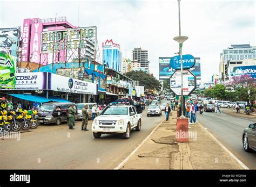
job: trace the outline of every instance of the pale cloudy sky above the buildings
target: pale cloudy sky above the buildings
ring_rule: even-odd
[[[79,26],[97,26],[99,47],[106,39],[120,44],[122,56],[134,47],[149,51],[150,72],[158,77],[158,57],[174,56],[178,43],[177,0],[2,1],[0,27],[23,26],[24,18],[66,16]],[[256,1],[181,1],[183,54],[201,58],[202,81],[218,74],[219,54],[231,44],[255,46]],[[100,51],[102,49],[100,48]],[[102,56],[101,56],[102,59]]]

